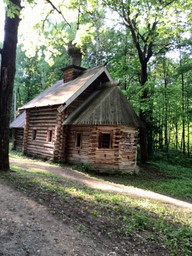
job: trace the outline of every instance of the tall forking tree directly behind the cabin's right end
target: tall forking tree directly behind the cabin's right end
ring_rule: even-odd
[[[140,85],[142,87],[140,119],[147,125],[147,113],[142,109],[142,103],[149,98],[147,86],[148,63],[151,57],[171,50],[173,36],[177,34],[176,14],[183,10],[184,3],[174,0],[162,1],[135,1],[103,0],[111,10],[118,13],[124,26],[130,31],[132,41],[140,61]],[[169,19],[172,18],[172,19]],[[174,20],[175,18],[175,20]],[[150,129],[150,126],[148,126]],[[148,134],[152,134],[148,132]],[[148,159],[146,129],[140,129],[141,163]]]

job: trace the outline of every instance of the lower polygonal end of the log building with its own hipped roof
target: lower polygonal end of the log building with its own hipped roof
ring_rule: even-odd
[[[117,84],[96,87],[63,125],[68,134],[68,163],[124,172],[136,167],[138,127],[142,124]]]

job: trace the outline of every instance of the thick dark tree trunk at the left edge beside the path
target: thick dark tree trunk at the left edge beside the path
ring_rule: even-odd
[[[19,6],[21,1],[11,0],[11,4]],[[19,17],[10,19],[5,15],[5,35],[1,53],[1,80],[0,80],[0,171],[9,171],[9,125],[13,85],[15,76],[15,59],[18,41]]]

